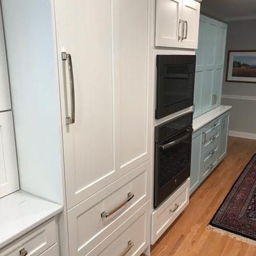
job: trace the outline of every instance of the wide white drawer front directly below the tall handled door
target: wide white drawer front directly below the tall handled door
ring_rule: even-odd
[[[150,199],[150,161],[68,211],[72,256],[84,256]],[[133,197],[132,197],[133,195]],[[128,199],[129,202],[124,204]],[[110,214],[106,218],[104,214]]]

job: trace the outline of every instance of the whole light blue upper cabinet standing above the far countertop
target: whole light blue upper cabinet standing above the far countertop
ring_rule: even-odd
[[[220,106],[227,24],[200,15],[194,118]]]

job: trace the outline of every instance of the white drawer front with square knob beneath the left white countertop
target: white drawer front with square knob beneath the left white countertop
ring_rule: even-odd
[[[0,256],[19,256],[20,250],[28,252],[28,256],[38,256],[55,243],[57,243],[56,220],[51,219],[4,247],[0,251]]]

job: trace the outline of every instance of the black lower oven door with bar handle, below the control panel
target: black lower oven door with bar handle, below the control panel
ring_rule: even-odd
[[[154,208],[190,176],[192,129],[156,143]]]

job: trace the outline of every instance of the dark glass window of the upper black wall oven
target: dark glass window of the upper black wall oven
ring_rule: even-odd
[[[164,107],[191,99],[191,65],[164,66],[163,105]]]

